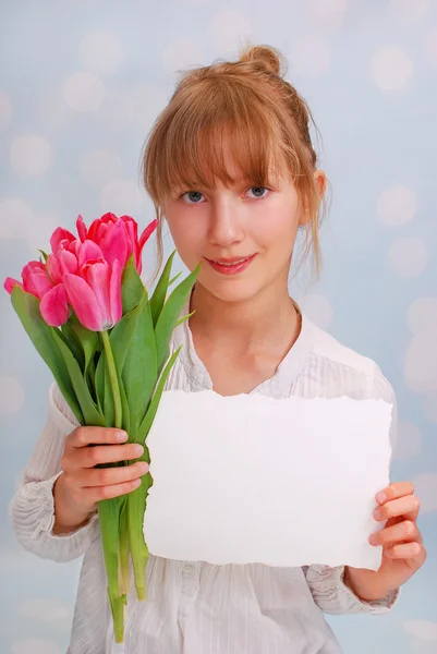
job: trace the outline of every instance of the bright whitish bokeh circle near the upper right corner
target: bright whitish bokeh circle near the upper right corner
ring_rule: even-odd
[[[371,76],[381,90],[401,90],[413,76],[413,64],[403,48],[386,46],[374,52]]]

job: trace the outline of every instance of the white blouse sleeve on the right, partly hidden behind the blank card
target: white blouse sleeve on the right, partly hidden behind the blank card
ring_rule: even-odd
[[[398,423],[396,396],[391,385],[376,365],[375,375],[369,379],[367,397],[385,400],[393,407],[390,427],[390,443],[393,450]],[[345,566],[337,568],[319,565],[306,566],[303,571],[314,602],[327,614],[384,614],[394,606],[400,593],[400,589],[397,589],[384,600],[363,602],[344,584]]]

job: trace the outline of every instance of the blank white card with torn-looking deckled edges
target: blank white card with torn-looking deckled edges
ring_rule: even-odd
[[[389,484],[392,405],[166,391],[148,435],[151,554],[215,565],[376,570],[375,494]]]

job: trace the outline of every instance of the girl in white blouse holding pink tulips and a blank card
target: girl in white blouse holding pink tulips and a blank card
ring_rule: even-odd
[[[378,366],[311,324],[289,296],[299,228],[319,267],[327,181],[316,165],[309,111],[280,64],[276,50],[255,47],[236,62],[191,71],[146,144],[144,180],[158,237],[166,219],[187,268],[203,262],[184,310],[195,314],[173,336],[173,349],[184,347],[168,388],[393,403]],[[48,422],[12,502],[26,549],[57,561],[85,555],[70,654],[338,653],[323,611],[387,611],[425,560],[413,486],[393,483],[376,497],[375,518],[388,519],[369,535],[384,545],[377,572],[150,557],[148,598],[129,598],[125,642],[116,646],[96,501],[129,493],[147,469],[96,469],[134,459],[141,446],[123,445],[116,429],[76,427],[53,386]]]

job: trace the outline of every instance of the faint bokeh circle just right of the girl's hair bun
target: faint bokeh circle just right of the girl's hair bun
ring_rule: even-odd
[[[320,36],[298,37],[290,56],[290,69],[293,74],[304,77],[319,77],[330,66],[330,48]]]

